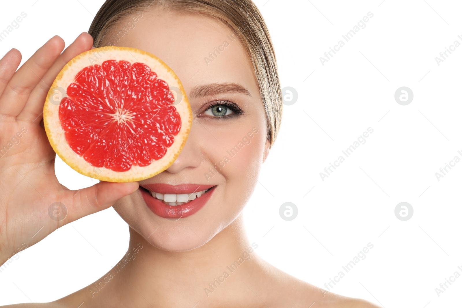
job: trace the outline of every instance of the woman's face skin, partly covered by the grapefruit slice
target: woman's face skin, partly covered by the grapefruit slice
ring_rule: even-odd
[[[216,187],[206,193],[210,196],[205,205],[187,217],[158,216],[147,206],[142,187],[120,199],[114,208],[153,246],[167,251],[190,250],[233,222],[249,200],[269,148],[266,114],[251,61],[236,39],[238,33],[206,17],[157,9],[140,16],[136,23],[115,26],[113,31],[119,36],[112,43],[146,50],[162,59],[182,81],[193,113],[191,131],[179,157],[170,168],[140,181],[140,185]],[[245,26],[241,28],[245,30]],[[245,90],[214,85],[228,83]],[[209,91],[197,91],[207,85]],[[230,107],[207,107],[207,103],[225,101],[236,104],[243,113]]]

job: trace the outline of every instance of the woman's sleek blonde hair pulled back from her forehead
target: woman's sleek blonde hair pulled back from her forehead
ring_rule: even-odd
[[[95,47],[102,47],[112,27],[134,13],[153,7],[171,12],[198,13],[225,23],[247,50],[267,115],[270,147],[279,132],[282,92],[273,42],[260,11],[251,0],[106,0],[88,33]]]

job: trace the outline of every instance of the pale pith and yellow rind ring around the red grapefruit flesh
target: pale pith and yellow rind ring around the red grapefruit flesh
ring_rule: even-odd
[[[87,61],[85,61],[85,58]],[[56,95],[55,89],[67,89],[67,86],[74,81],[76,74],[84,67],[94,64],[101,65],[105,60],[125,60],[131,64],[136,62],[144,63],[149,66],[153,72],[156,72],[158,79],[164,80],[170,87],[177,87],[182,93],[181,102],[177,103],[177,93],[172,91],[175,97],[174,106],[182,119],[180,132],[174,136],[175,141],[167,148],[164,157],[158,160],[152,160],[152,163],[148,166],[141,167],[133,165],[131,169],[122,172],[113,171],[105,167],[94,167],[85,161],[82,156],[75,153],[66,141],[64,129],[61,127],[61,121],[59,119],[59,105],[51,103],[54,101],[54,96]],[[64,97],[66,97],[66,93],[62,93],[61,99]],[[56,76],[53,85],[50,87],[47,99],[45,100],[43,107],[43,124],[53,150],[75,171],[100,181],[132,182],[145,180],[170,167],[186,144],[192,124],[192,111],[180,79],[178,79],[175,72],[173,72],[164,61],[140,49],[105,46],[94,48],[77,55],[62,68],[61,72]]]

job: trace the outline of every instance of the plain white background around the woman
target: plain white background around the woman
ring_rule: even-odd
[[[460,305],[462,277],[438,297],[435,288],[462,271],[462,46],[437,65],[435,57],[462,43],[458,1],[255,0],[269,27],[282,87],[298,100],[284,106],[282,127],[245,209],[250,242],[274,266],[319,287],[371,242],[374,246],[332,291],[389,307]],[[0,42],[28,59],[50,37],[67,45],[88,30],[103,0],[8,1],[0,31],[27,17]],[[373,17],[348,42],[367,12]],[[328,62],[320,57],[339,40]],[[413,101],[396,103],[407,86]],[[322,181],[319,173],[371,127],[374,131]],[[345,155],[343,155],[345,157]],[[60,181],[90,186],[57,160]],[[2,179],[2,181],[6,179]],[[413,217],[395,217],[400,202]],[[284,202],[298,216],[279,216]],[[20,205],[18,205],[20,206]],[[48,302],[90,284],[126,252],[128,226],[110,208],[70,223],[18,254],[0,273],[0,305]]]

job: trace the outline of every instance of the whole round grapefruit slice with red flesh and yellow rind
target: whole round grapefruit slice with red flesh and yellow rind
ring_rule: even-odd
[[[71,168],[128,182],[170,167],[186,143],[192,112],[180,79],[162,60],[106,46],[64,66],[48,92],[43,123]]]

